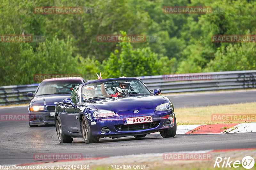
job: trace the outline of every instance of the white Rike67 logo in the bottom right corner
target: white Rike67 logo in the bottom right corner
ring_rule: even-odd
[[[228,157],[228,159],[226,157],[224,159],[222,159],[221,157],[217,157],[213,167],[215,168],[217,166],[218,168],[219,167],[231,168],[232,166],[234,168],[237,168],[241,166],[241,164],[245,169],[251,169],[254,166],[254,159],[251,156],[245,156],[242,159],[242,161],[240,160],[234,161],[234,160],[230,160],[230,157]]]

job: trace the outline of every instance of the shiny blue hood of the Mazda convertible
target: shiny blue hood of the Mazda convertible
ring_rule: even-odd
[[[159,104],[166,103],[163,96],[126,96],[113,97],[103,100],[88,102],[94,105],[98,110],[111,110],[114,112],[151,109]]]

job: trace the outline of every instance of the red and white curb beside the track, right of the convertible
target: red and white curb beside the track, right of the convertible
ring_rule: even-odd
[[[176,134],[256,132],[256,123],[178,125]]]

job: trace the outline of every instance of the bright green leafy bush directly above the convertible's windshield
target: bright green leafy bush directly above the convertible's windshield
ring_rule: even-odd
[[[123,36],[126,32],[121,32]],[[153,53],[149,47],[133,49],[130,42],[119,42],[121,47],[115,53],[111,53],[108,60],[104,61],[104,76],[146,76],[160,73],[160,63],[157,54]],[[107,74],[107,75],[106,75]]]

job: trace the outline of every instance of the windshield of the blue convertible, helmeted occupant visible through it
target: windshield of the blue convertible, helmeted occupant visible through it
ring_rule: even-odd
[[[100,81],[82,87],[82,101],[90,98],[151,95],[138,80]]]

